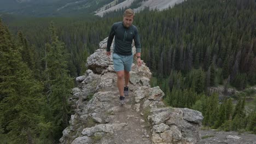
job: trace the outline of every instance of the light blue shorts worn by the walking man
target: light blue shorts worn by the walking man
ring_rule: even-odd
[[[133,62],[133,55],[121,56],[117,53],[113,53],[113,63],[115,71],[126,70],[131,71],[131,65]]]

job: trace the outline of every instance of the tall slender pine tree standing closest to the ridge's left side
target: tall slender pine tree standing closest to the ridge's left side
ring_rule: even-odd
[[[68,75],[65,46],[56,35],[53,22],[51,22],[49,29],[51,43],[45,45],[47,54],[45,58],[45,83],[48,91],[48,109],[46,111],[51,113],[49,119],[54,123],[54,133],[49,133],[49,137],[53,136],[54,139],[58,139],[61,131],[68,125],[70,106],[67,100],[73,87],[73,80]]]

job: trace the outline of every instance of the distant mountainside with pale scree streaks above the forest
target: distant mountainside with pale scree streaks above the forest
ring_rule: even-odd
[[[1,0],[0,13],[26,16],[74,16],[96,14],[103,16],[113,10],[131,8],[135,11],[166,9],[184,0]]]

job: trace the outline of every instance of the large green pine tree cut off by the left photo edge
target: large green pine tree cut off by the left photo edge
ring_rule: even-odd
[[[8,28],[0,21],[0,131],[7,143],[36,143],[40,126],[42,85],[22,62]]]

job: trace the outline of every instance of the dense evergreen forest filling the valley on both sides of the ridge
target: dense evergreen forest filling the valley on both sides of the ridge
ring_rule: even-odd
[[[85,73],[87,57],[124,10],[102,18],[2,17],[2,143],[59,142],[72,115],[68,97],[75,77]],[[205,128],[256,134],[256,1],[187,0],[162,11],[145,8],[133,25],[153,74],[150,84],[161,87],[167,105],[202,112]],[[223,87],[224,96],[211,87]],[[228,95],[229,88],[238,93]]]

